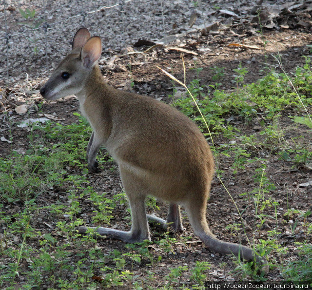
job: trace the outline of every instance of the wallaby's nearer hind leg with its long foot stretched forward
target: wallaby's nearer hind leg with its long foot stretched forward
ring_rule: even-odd
[[[96,228],[98,234],[106,235],[108,238],[118,239],[127,243],[137,243],[143,240],[150,240],[150,233],[145,213],[145,196],[130,194],[128,195],[132,215],[132,227],[130,232],[123,232],[108,228]],[[80,227],[78,232],[85,233],[87,227]]]

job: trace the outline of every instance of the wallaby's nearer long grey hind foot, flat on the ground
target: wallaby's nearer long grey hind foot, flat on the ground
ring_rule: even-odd
[[[103,227],[79,227],[78,233],[84,234],[90,229],[94,229],[96,231],[94,238],[97,238],[97,239],[104,238],[101,236],[105,236],[105,238],[121,240],[126,243],[140,243],[140,242],[143,242],[144,240],[149,240],[149,241],[151,240],[149,233],[142,234],[136,231],[123,232],[123,231],[118,231],[118,230],[103,228]]]

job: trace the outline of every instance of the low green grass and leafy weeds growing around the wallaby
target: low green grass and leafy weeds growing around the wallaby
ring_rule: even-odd
[[[213,72],[213,79],[222,82],[224,68],[215,67]],[[267,164],[274,157],[279,164],[292,168],[302,168],[311,162],[311,142],[307,142],[311,136],[309,118],[304,115],[301,101],[285,74],[267,69],[265,72],[264,78],[244,84],[247,71],[240,65],[234,72],[231,92],[219,90],[219,84],[202,87],[199,78],[194,79],[189,88],[217,140],[213,148],[216,159],[226,164],[218,168],[219,176],[222,178],[227,171],[239,179],[241,174],[253,172],[252,186],[239,196],[248,205],[241,209],[241,215],[250,207],[254,211],[255,250],[269,258],[281,280],[312,280],[312,248],[308,239],[312,233],[311,213],[292,209],[290,204],[282,217],[279,214],[282,197],[278,194],[285,193],[277,192],[280,185],[273,182],[267,172]],[[302,102],[310,108],[310,58],[306,58],[303,67],[295,69],[291,80]],[[176,99],[174,105],[193,118],[210,138],[190,96]],[[204,289],[212,267],[207,262],[167,266],[177,254],[177,243],[182,244],[183,251],[190,250],[189,237],[156,235],[154,243],[129,244],[117,251],[105,243],[99,244],[91,236],[78,235],[76,230],[85,218],[110,225],[117,207],[123,211],[124,223],[130,222],[130,214],[122,191],[98,193],[90,184],[85,150],[91,130],[84,118],[74,115],[78,121],[67,126],[54,122],[33,124],[28,135],[31,145],[26,154],[11,151],[7,158],[0,159],[0,227],[3,229],[0,232],[0,287],[153,289],[157,279],[161,289]],[[298,121],[296,116],[307,120]],[[12,126],[15,125],[12,121]],[[259,127],[256,131],[246,133],[241,129],[255,125]],[[292,134],[298,126],[302,135]],[[98,160],[114,172],[116,164],[105,152],[99,154]],[[91,215],[83,214],[86,204],[94,208]],[[158,209],[153,198],[147,206]],[[269,220],[275,225],[268,231],[268,237],[263,238],[261,228]],[[296,244],[293,257],[297,259],[292,260],[288,260],[289,249],[279,243],[281,230],[289,225],[293,235],[299,229],[305,237]],[[224,228],[229,236],[243,235],[245,221],[237,220]],[[253,241],[251,243],[253,246]],[[235,259],[234,263],[233,275],[237,280],[265,280],[252,263]],[[227,271],[224,265],[220,268]],[[164,271],[163,275],[159,276],[159,269]],[[189,281],[187,286],[183,284],[185,281]]]

